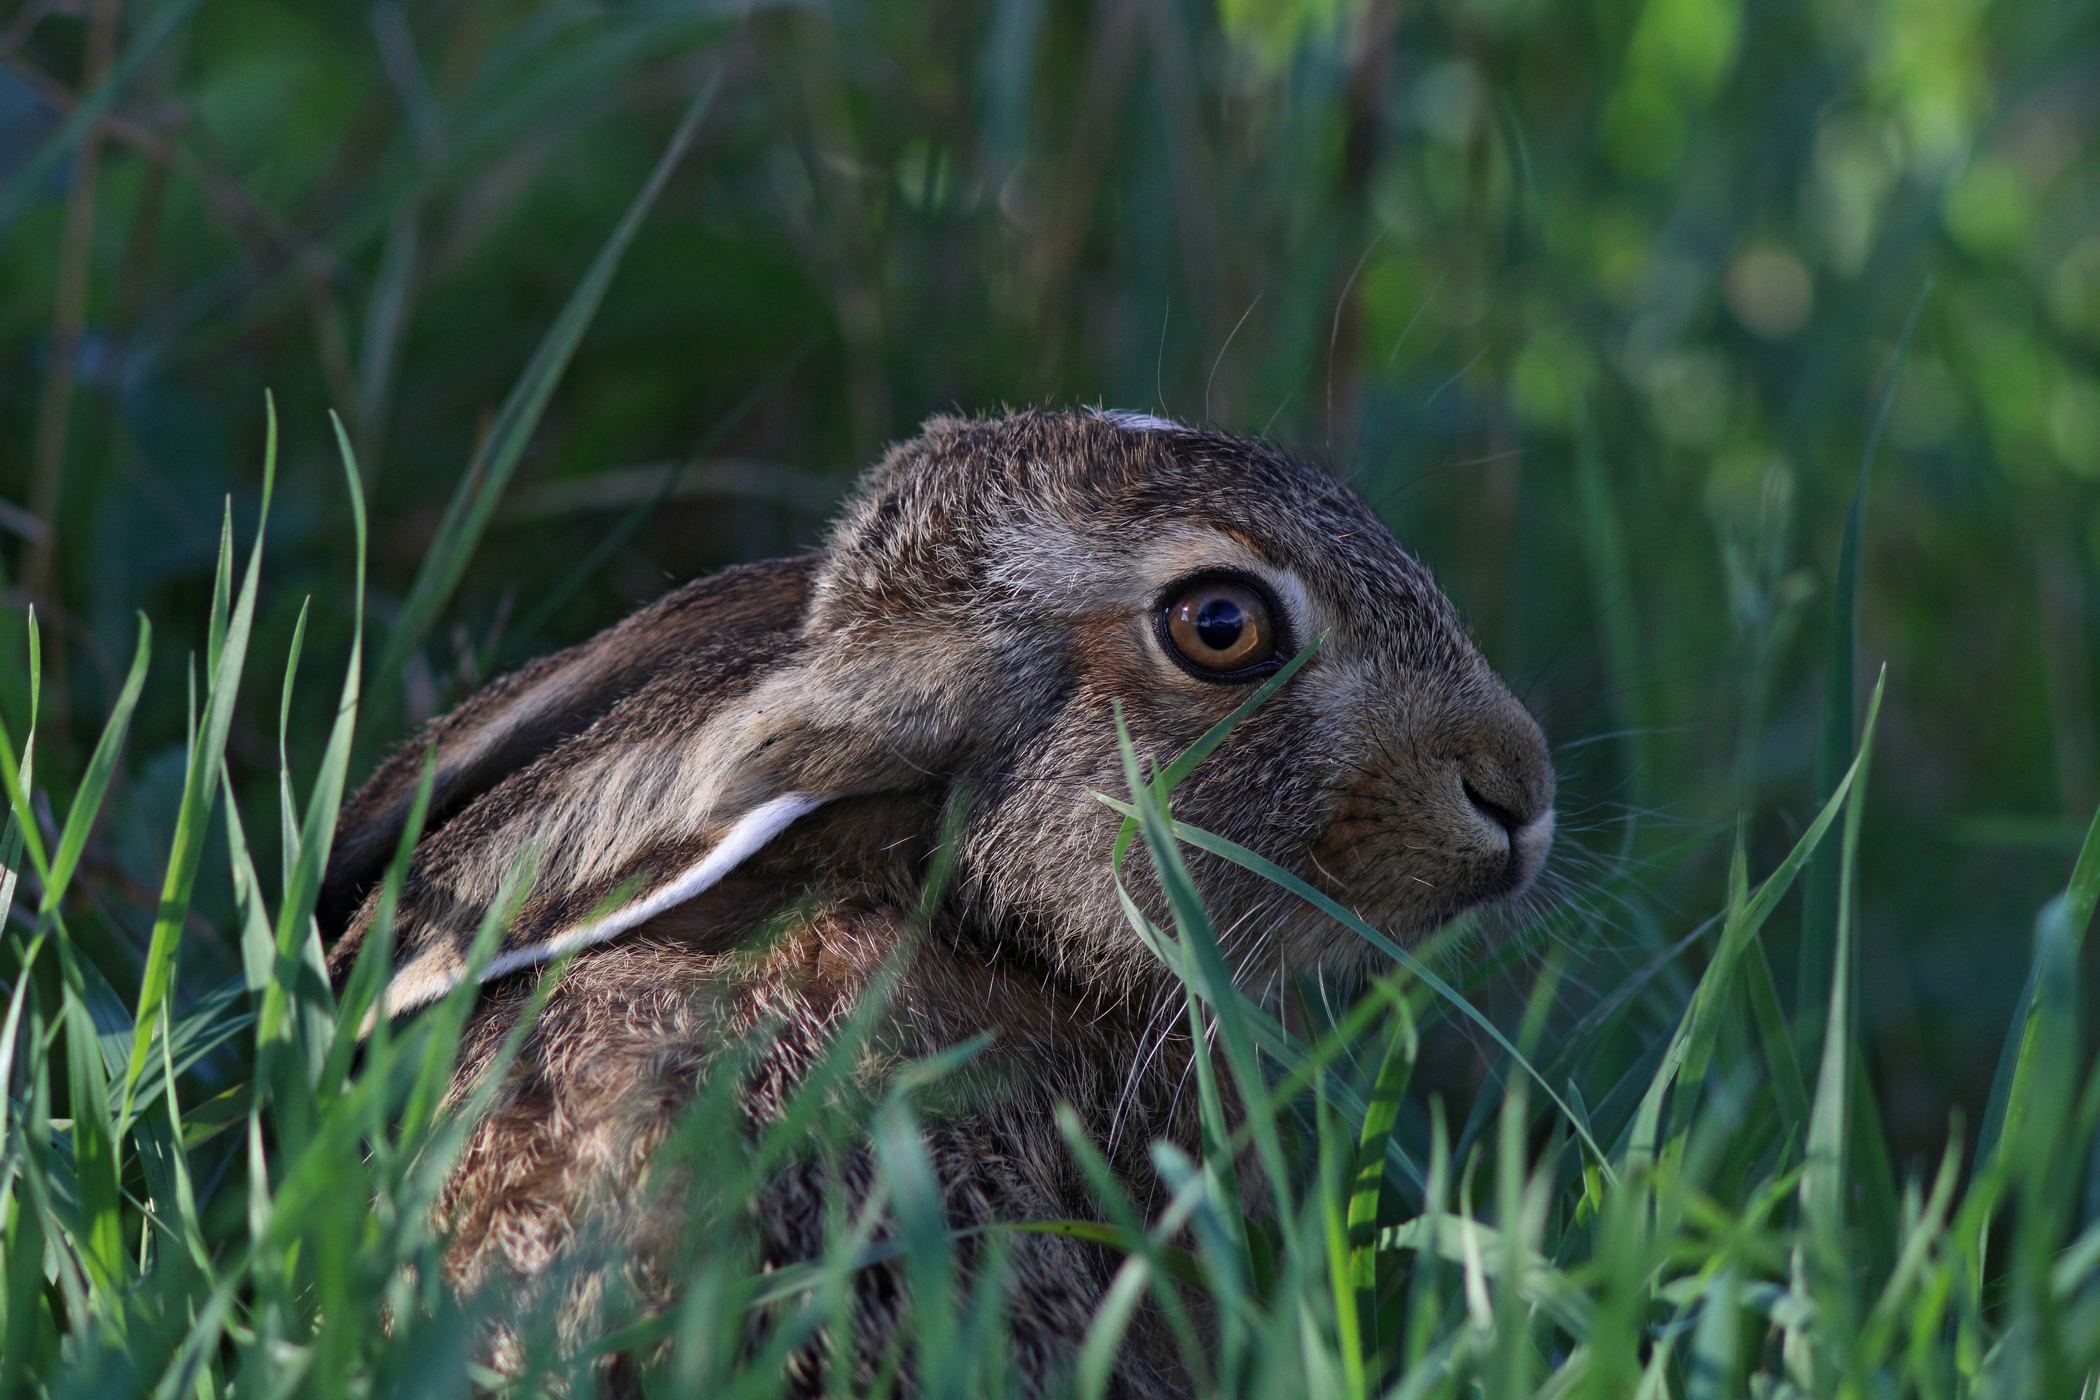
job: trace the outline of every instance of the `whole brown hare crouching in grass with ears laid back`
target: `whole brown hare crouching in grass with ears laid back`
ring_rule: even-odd
[[[754,1035],[746,1108],[779,1112],[878,974],[895,982],[867,1077],[993,1037],[928,1127],[953,1226],[1098,1209],[1060,1104],[1151,1201],[1147,1146],[1193,1138],[1191,1049],[1107,879],[1119,819],[1092,793],[1124,789],[1117,714],[1161,764],[1315,640],[1176,789],[1176,814],[1399,938],[1522,890],[1552,835],[1548,751],[1428,573],[1331,476],[1159,420],[934,420],[867,474],[819,556],[682,588],[435,722],[346,808],[332,970],[372,928],[426,751],[433,829],[388,1012],[468,976],[527,852],[536,879],[483,970],[462,1085],[529,999],[508,974],[582,949],[441,1201],[458,1280],[525,1287],[601,1222],[645,1293],[668,1293],[676,1219],[643,1205],[651,1152]],[[928,900],[943,840],[953,882]],[[1130,890],[1161,915],[1140,867]],[[1239,867],[1191,869],[1252,995],[1371,961]],[[771,940],[748,947],[762,926]],[[825,1192],[865,1180],[861,1148],[771,1178],[769,1261],[813,1257]],[[1060,1236],[1014,1247],[1025,1385],[1071,1362],[1111,1270]],[[880,1350],[897,1297],[867,1270],[863,1348]],[[1149,1327],[1117,1385],[1178,1394]]]

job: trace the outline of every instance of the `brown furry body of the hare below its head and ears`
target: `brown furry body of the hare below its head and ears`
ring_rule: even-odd
[[[897,819],[892,806],[827,810],[815,823],[817,840],[867,846]],[[892,842],[899,869],[924,854],[922,840]],[[664,1148],[695,1096],[722,1073],[735,1075],[737,1117],[762,1133],[872,995],[880,997],[880,1020],[859,1047],[857,1083],[880,1085],[886,1066],[953,1045],[987,1020],[995,1033],[993,1045],[951,1077],[949,1094],[926,1104],[924,1148],[966,1278],[985,1228],[1092,1217],[1098,1209],[1056,1129],[1058,1102],[1075,1108],[1096,1142],[1111,1144],[1126,1180],[1151,1178],[1140,1148],[1172,1104],[1121,1102],[1126,1077],[1115,1066],[1130,1064],[1134,1041],[1113,1010],[958,957],[947,938],[922,936],[909,905],[865,884],[792,911],[741,949],[722,947],[722,924],[752,928],[775,913],[766,875],[760,865],[710,892],[712,917],[664,921],[573,963],[439,1199],[456,1240],[447,1268],[458,1287],[510,1280],[531,1291],[565,1280],[563,1333],[584,1341],[605,1322],[596,1310],[607,1270],[617,1270],[645,1308],[672,1301],[685,1232],[704,1230],[710,1211],[750,1211],[764,1266],[821,1257],[838,1205],[859,1209],[872,1188],[865,1144],[813,1144],[771,1171],[752,1199],[697,1209],[710,1186],[727,1184],[695,1180],[704,1163],[731,1178],[743,1159],[724,1163],[716,1142],[704,1154]],[[878,989],[884,968],[892,980]],[[529,999],[529,978],[487,991],[466,1033],[458,1091],[494,1066]],[[754,1056],[743,1060],[739,1049]],[[1176,1052],[1186,1047],[1176,1043],[1168,1058]],[[1126,1119],[1126,1131],[1115,1131],[1115,1119]],[[1124,1150],[1113,1146],[1117,1138]],[[1067,1236],[1018,1234],[1008,1261],[1010,1360],[1029,1392],[1048,1390],[1067,1373],[1113,1259]],[[855,1383],[874,1379],[903,1295],[899,1266],[857,1278],[850,1356],[863,1375]],[[796,1394],[825,1392],[823,1356],[825,1348],[813,1345],[796,1358]],[[1186,1390],[1151,1310],[1117,1364],[1117,1385],[1134,1398]]]

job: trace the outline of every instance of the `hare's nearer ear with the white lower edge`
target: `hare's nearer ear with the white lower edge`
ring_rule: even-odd
[[[533,886],[481,978],[605,942],[693,900],[834,798],[937,793],[981,728],[970,720],[983,705],[966,688],[985,680],[962,653],[937,653],[863,646],[827,625],[817,602],[802,628],[718,630],[689,644],[418,846],[395,915],[384,1012],[410,1012],[468,976],[477,932],[527,863]],[[916,819],[878,808],[892,816],[876,821],[874,850],[918,831]],[[785,886],[844,875],[867,858],[823,835],[788,858],[794,875],[775,863],[769,877]],[[376,903],[368,896],[330,953],[334,976],[346,974]],[[687,932],[706,940],[699,930],[720,919],[727,949],[750,900],[731,905],[739,913],[697,909]]]

